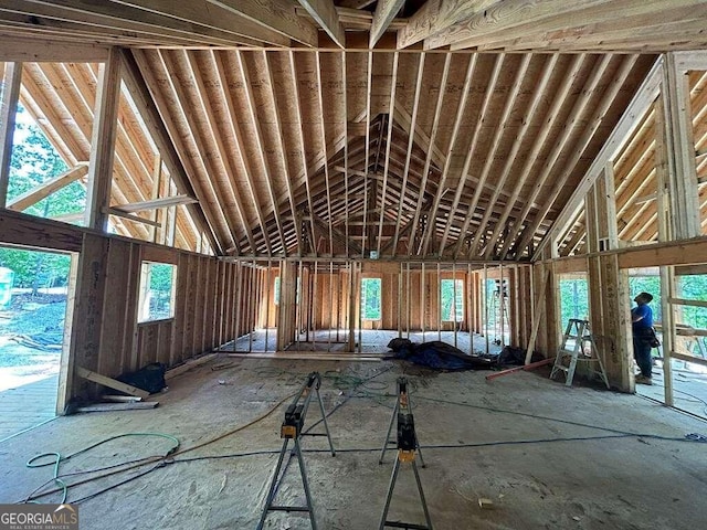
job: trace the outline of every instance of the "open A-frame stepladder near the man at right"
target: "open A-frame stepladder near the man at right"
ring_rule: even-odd
[[[570,339],[574,339],[574,347],[571,350],[568,350],[567,342]],[[569,364],[564,364],[566,358],[569,358]],[[604,370],[604,362],[601,359],[601,352],[599,351],[599,348],[597,348],[597,343],[594,342],[589,329],[589,320],[570,318],[562,337],[562,346],[555,358],[550,379],[555,379],[555,375],[559,372],[564,372],[564,384],[567,386],[571,386],[578,362],[599,364],[599,370],[592,369],[590,370],[590,373],[599,375],[606,385],[606,389],[610,388],[609,380],[606,379],[606,370]]]

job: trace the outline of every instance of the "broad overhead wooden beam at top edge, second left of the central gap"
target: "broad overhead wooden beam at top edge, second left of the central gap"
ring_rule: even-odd
[[[317,28],[299,17],[286,0],[207,0],[209,3],[281,33],[307,46],[319,44]]]

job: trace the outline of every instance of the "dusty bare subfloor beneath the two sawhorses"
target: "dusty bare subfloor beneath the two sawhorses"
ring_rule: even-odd
[[[395,453],[389,451],[383,465],[378,458],[395,380],[403,374],[412,389],[426,464],[420,476],[436,530],[695,530],[707,520],[707,443],[685,441],[687,434],[707,433],[705,422],[636,395],[567,388],[548,380],[547,371],[487,382],[483,371],[440,373],[400,361],[214,358],[151,396],[160,402],[157,409],[60,417],[0,445],[0,502],[25,499],[51,479],[51,467],[25,467],[40,453],[68,456],[109,436],[162,433],[180,442],[169,464],[151,463],[70,489],[70,502],[85,499],[81,528],[254,529],[282,447],[286,404],[312,371],[323,375],[320,392],[337,449],[333,457],[325,437],[303,441],[319,529],[379,527]],[[319,417],[313,402],[305,427]],[[323,432],[323,425],[313,432]],[[220,437],[226,433],[232,434]],[[214,442],[201,445],[209,441]],[[76,455],[61,473],[163,454],[169,447],[165,438],[123,437]],[[279,505],[304,504],[292,464]],[[479,499],[493,504],[482,508]],[[424,522],[408,464],[389,520]],[[265,528],[310,527],[305,515],[274,513]]]

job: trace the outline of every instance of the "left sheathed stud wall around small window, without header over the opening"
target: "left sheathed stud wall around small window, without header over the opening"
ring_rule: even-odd
[[[140,265],[177,266],[173,318],[137,322]],[[226,316],[234,304],[236,267],[197,254],[159,248],[115,237],[85,234],[78,257],[71,358],[115,378],[150,362],[177,365],[210,351],[235,335]],[[87,383],[72,395],[93,393]]]

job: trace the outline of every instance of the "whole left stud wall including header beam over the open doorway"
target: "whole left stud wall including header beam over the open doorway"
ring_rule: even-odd
[[[74,378],[77,367],[109,378],[150,362],[173,367],[235,337],[235,264],[11,211],[0,212],[0,241],[73,255],[67,322],[76,325],[65,338],[59,413],[97,393]],[[144,261],[177,266],[173,318],[138,324]]]

